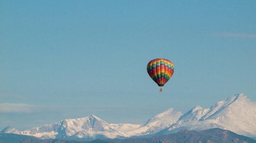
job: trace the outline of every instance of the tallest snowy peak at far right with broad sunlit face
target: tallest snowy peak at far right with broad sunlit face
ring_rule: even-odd
[[[256,102],[247,99],[244,94],[231,96],[223,102],[226,103],[208,115],[206,120],[238,134],[256,136]]]

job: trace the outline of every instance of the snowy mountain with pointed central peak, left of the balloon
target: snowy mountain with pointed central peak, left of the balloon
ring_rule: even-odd
[[[123,132],[112,129],[106,121],[90,115],[78,119],[65,119],[55,124],[25,130],[22,134],[38,137],[40,139],[49,138],[115,138],[123,136]]]

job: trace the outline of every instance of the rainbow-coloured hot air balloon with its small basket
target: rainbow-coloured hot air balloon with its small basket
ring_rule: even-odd
[[[150,78],[152,78],[160,87],[160,92],[164,84],[173,76],[173,63],[164,58],[156,58],[151,60],[147,65],[147,71]]]

